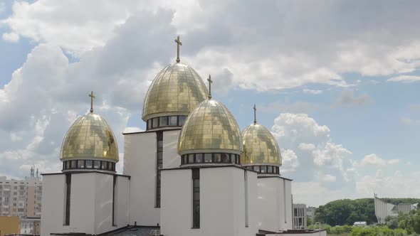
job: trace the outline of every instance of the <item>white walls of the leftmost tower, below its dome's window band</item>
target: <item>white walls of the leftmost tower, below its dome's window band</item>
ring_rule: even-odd
[[[127,225],[128,178],[117,176],[115,188],[116,219],[112,225],[113,175],[107,173],[71,173],[70,225],[65,218],[65,174],[44,175],[41,235],[60,232],[85,232],[98,235]]]

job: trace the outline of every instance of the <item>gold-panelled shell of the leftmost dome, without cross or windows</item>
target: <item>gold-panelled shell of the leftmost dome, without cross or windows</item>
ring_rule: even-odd
[[[98,114],[88,113],[79,117],[65,134],[60,159],[105,159],[117,162],[118,146],[111,127]]]

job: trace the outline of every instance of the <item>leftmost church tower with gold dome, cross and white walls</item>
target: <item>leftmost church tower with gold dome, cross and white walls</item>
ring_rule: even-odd
[[[128,223],[128,176],[115,173],[119,161],[114,133],[90,112],[75,120],[61,145],[61,173],[43,174],[41,235],[85,232],[99,235]]]

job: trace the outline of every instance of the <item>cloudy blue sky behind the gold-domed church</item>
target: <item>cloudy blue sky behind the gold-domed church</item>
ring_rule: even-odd
[[[90,109],[145,129],[145,92],[181,60],[244,129],[280,145],[295,202],[420,197],[420,1],[0,1],[0,176],[59,171]],[[120,170],[122,166],[119,166]]]

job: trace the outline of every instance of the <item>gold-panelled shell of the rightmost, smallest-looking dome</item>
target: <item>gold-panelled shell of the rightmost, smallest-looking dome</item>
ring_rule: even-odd
[[[251,124],[242,132],[243,166],[263,165],[281,166],[280,149],[273,134],[261,124]]]

